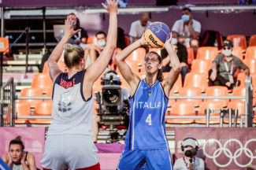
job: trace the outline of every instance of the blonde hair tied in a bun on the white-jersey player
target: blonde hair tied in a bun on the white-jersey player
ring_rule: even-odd
[[[68,68],[79,65],[80,60],[84,57],[84,51],[81,46],[66,43],[64,46],[64,61]]]

